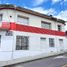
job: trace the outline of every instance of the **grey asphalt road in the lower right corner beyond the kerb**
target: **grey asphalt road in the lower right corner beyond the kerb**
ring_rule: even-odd
[[[67,54],[43,58],[27,63],[18,64],[12,67],[67,67]]]

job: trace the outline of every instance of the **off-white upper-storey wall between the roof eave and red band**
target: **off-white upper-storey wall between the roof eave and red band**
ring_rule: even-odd
[[[20,11],[16,11],[16,10],[9,10],[9,9],[4,9],[4,10],[1,10],[0,11],[0,14],[3,14],[3,21],[7,21],[7,22],[17,22],[17,16],[20,15],[20,16],[25,16],[25,17],[28,17],[29,18],[29,25],[30,26],[34,26],[34,27],[41,27],[41,21],[45,21],[47,23],[51,23],[52,27],[51,29],[52,30],[57,30],[57,25],[62,25],[62,31],[65,31],[64,30],[64,25],[62,23],[57,23],[55,21],[51,21],[51,20],[48,20],[48,19],[45,19],[45,18],[41,18],[41,17],[38,17],[38,16],[34,16],[34,15],[31,15],[31,14],[27,14],[27,13],[24,13],[24,12],[20,12]],[[10,16],[12,16],[10,18]]]

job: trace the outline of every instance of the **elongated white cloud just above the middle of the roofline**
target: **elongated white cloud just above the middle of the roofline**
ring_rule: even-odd
[[[56,14],[56,11],[53,8],[46,10],[43,7],[36,7],[36,8],[32,8],[32,10],[37,11],[39,13],[48,14],[48,15],[55,15]]]

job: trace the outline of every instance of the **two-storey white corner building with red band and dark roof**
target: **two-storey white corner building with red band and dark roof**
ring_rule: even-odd
[[[0,62],[18,63],[67,51],[64,26],[65,21],[52,16],[0,5]]]

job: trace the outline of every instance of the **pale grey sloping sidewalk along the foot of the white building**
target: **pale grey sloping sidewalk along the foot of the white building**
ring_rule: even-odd
[[[9,61],[2,61],[2,62],[0,62],[0,66],[14,65],[17,63],[22,63],[22,62],[27,63],[27,62],[31,62],[31,61],[36,61],[36,60],[45,59],[45,58],[49,58],[49,57],[55,57],[55,56],[64,55],[64,54],[67,54],[67,52],[51,53],[51,54],[46,54],[46,55],[42,54],[42,55],[38,55],[38,56],[28,56],[28,57],[24,57],[24,58],[9,60]]]

